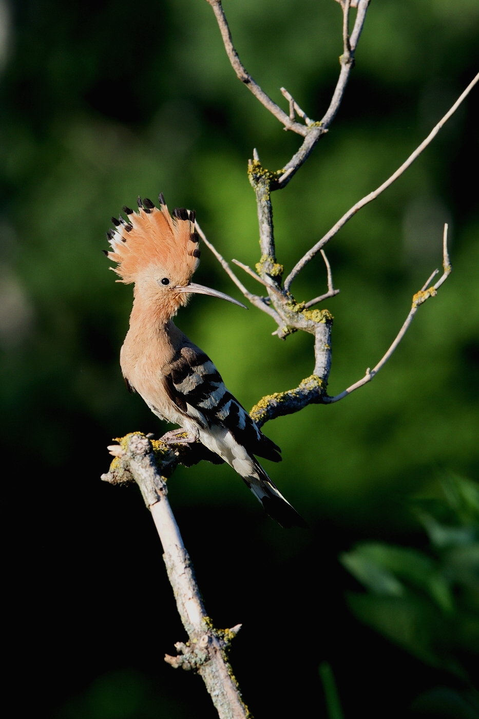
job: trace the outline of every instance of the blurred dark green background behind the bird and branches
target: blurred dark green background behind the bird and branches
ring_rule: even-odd
[[[320,119],[339,70],[339,5],[225,0],[224,9],[265,91],[286,109],[285,86]],[[2,0],[0,27],[11,657],[17,677],[25,665],[32,672],[17,701],[29,696],[45,717],[214,717],[200,679],[163,664],[184,633],[140,495],[99,480],[112,437],[168,429],[124,389],[118,355],[132,288],[114,283],[101,249],[111,215],[163,191],[170,207],[196,209],[227,259],[254,265],[248,157],[257,147],[266,167],[280,168],[299,138],[237,81],[204,0]],[[478,0],[373,0],[337,119],[273,194],[286,270],[449,109],[478,71],[478,38]],[[454,272],[374,383],[265,426],[283,449],[268,472],[311,529],[280,530],[229,467],[203,463],[170,480],[209,612],[219,626],[244,623],[232,660],[257,717],[326,716],[324,659],[346,716],[405,716],[419,692],[449,681],[352,619],[342,597],[357,585],[337,555],[360,539],[420,546],[406,499],[441,470],[478,479],[478,121],[476,88],[327,248],[341,290],[327,305],[330,394],[391,344],[442,262],[444,221]],[[196,279],[238,296],[206,248]],[[293,291],[301,301],[325,287],[314,260]],[[198,297],[178,325],[246,407],[311,374],[312,337],[278,341],[255,308]],[[108,700],[121,692],[117,705]]]

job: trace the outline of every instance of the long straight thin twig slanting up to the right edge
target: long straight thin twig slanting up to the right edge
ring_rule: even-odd
[[[314,255],[316,255],[317,252],[319,252],[321,247],[324,247],[324,245],[327,244],[327,242],[329,242],[329,240],[332,239],[332,237],[334,237],[334,235],[339,232],[339,230],[347,223],[347,221],[349,221],[357,213],[358,210],[360,210],[362,207],[364,207],[365,205],[368,205],[370,202],[375,200],[375,198],[377,198],[388,187],[390,187],[393,184],[393,182],[395,182],[399,177],[401,177],[401,175],[410,167],[410,165],[412,165],[414,160],[416,160],[417,157],[419,157],[419,155],[421,155],[421,152],[423,152],[423,150],[425,150],[426,147],[432,142],[434,137],[436,137],[437,133],[442,128],[442,126],[455,113],[455,111],[460,106],[462,101],[467,97],[467,95],[473,89],[475,84],[478,83],[478,81],[479,81],[479,73],[475,76],[473,81],[469,83],[467,88],[465,88],[465,91],[455,101],[455,104],[452,106],[452,108],[444,115],[444,117],[441,120],[439,120],[439,122],[434,127],[434,129],[432,129],[432,132],[430,132],[429,135],[426,137],[426,139],[424,139],[424,141],[421,142],[421,145],[419,145],[419,147],[417,147],[416,150],[414,150],[414,152],[411,155],[409,155],[406,162],[403,162],[401,167],[398,168],[398,170],[396,170],[396,172],[393,173],[393,175],[391,175],[391,177],[388,178],[388,180],[386,180],[386,182],[383,182],[383,184],[380,185],[380,187],[378,187],[377,190],[370,192],[368,195],[363,197],[362,200],[360,200],[355,205],[353,205],[352,208],[350,210],[348,210],[339,221],[337,221],[337,223],[334,225],[334,227],[332,227],[329,230],[329,232],[327,232],[327,234],[324,235],[324,237],[321,237],[319,242],[316,242],[314,247],[311,247],[311,249],[308,252],[306,252],[306,255],[304,255],[304,257],[301,257],[301,260],[299,260],[299,262],[296,263],[296,265],[293,267],[293,270],[291,270],[291,273],[289,273],[288,277],[285,280],[284,288],[285,288],[286,292],[289,291],[289,288],[291,287],[291,283],[293,282],[294,278],[296,278],[296,275],[298,275],[298,273],[301,272],[303,267],[305,267],[308,264],[308,262],[313,259]]]

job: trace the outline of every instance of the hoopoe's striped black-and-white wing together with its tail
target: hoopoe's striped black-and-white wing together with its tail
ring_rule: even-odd
[[[280,448],[229,393],[211,359],[186,339],[170,362],[163,382],[185,429],[196,431],[208,449],[236,470],[270,517],[286,528],[306,527],[255,458],[257,455],[280,462]]]

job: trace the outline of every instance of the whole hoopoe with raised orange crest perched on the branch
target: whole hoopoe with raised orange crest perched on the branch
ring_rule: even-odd
[[[280,449],[260,431],[224,386],[211,359],[173,323],[192,293],[242,303],[191,282],[199,265],[195,213],[168,212],[138,198],[138,212],[124,206],[127,221],[111,218],[107,232],[117,262],[111,270],[134,283],[129,330],[120,352],[127,388],[136,391],[160,419],[178,424],[231,465],[266,512],[283,527],[304,527],[304,519],[278,491],[255,456],[279,462]]]

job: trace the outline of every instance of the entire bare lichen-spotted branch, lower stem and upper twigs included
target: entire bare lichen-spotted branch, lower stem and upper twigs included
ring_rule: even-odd
[[[342,39],[343,53],[339,58],[341,69],[336,88],[332,96],[326,114],[321,122],[313,122],[301,107],[296,103],[291,93],[281,88],[283,96],[289,104],[289,114],[286,114],[270,97],[257,85],[251,75],[247,73],[242,65],[237,51],[232,44],[232,37],[229,32],[227,19],[224,16],[221,0],[206,0],[213,8],[216,20],[224,42],[232,68],[239,80],[250,89],[255,97],[268,109],[285,127],[304,137],[303,145],[291,158],[288,164],[276,172],[270,172],[262,167],[257,150],[253,152],[253,160],[248,165],[250,183],[255,191],[257,203],[257,215],[260,234],[261,258],[257,263],[257,274],[242,262],[233,260],[235,264],[242,267],[245,272],[251,275],[257,282],[264,285],[268,290],[268,298],[260,297],[250,293],[245,285],[237,278],[229,263],[206,239],[199,224],[196,223],[196,231],[207,247],[213,252],[220,262],[229,278],[237,285],[253,305],[268,313],[277,324],[273,334],[280,339],[285,339],[288,334],[298,330],[309,332],[314,335],[314,371],[313,374],[299,383],[298,387],[282,393],[274,393],[263,397],[255,407],[252,408],[251,416],[257,426],[263,426],[266,421],[275,417],[294,413],[310,403],[335,403],[357,388],[370,382],[378,371],[386,364],[393,354],[399,342],[409,328],[412,319],[419,308],[429,297],[437,294],[437,289],[444,283],[452,271],[449,255],[447,252],[447,225],[444,226],[443,239],[443,266],[444,273],[435,285],[428,286],[437,270],[431,275],[423,288],[413,297],[411,311],[404,322],[401,331],[396,336],[388,352],[380,359],[378,365],[372,371],[367,370],[365,377],[355,385],[347,388],[344,392],[334,397],[327,395],[327,383],[331,369],[331,331],[332,315],[327,309],[311,309],[314,304],[333,297],[339,293],[334,289],[332,271],[329,261],[322,249],[329,239],[337,234],[339,229],[362,207],[373,201],[380,193],[390,186],[418,157],[429,142],[435,137],[442,125],[455,112],[460,103],[479,81],[479,74],[466,88],[450,111],[437,124],[434,130],[415,150],[401,168],[396,170],[391,178],[386,180],[376,191],[370,193],[348,211],[342,219],[325,235],[306,255],[296,264],[286,279],[284,288],[281,288],[283,266],[276,262],[275,238],[273,232],[273,209],[271,206],[270,193],[273,190],[286,186],[296,173],[298,168],[306,161],[314,145],[324,133],[328,132],[329,125],[337,114],[339,105],[345,93],[347,81],[354,66],[354,54],[359,41],[365,16],[368,11],[370,0],[337,0],[342,6],[343,23]],[[357,8],[355,23],[350,34],[350,9]],[[305,124],[296,122],[296,114],[304,120]],[[289,291],[291,283],[298,272],[311,260],[317,252],[321,252],[327,267],[328,291],[323,295],[305,303],[298,303]],[[237,682],[232,674],[232,669],[227,661],[227,649],[232,638],[236,635],[241,625],[231,629],[219,630],[214,628],[210,618],[206,615],[203,600],[196,583],[191,560],[183,544],[181,533],[175,521],[167,498],[165,477],[171,475],[178,463],[191,466],[202,459],[221,463],[216,454],[210,452],[195,437],[190,436],[186,431],[175,430],[165,434],[160,440],[149,441],[149,436],[141,433],[132,433],[122,438],[119,445],[111,445],[110,453],[114,456],[111,467],[102,480],[111,484],[120,482],[137,482],[150,509],[155,526],[158,530],[160,540],[163,544],[165,565],[168,572],[170,584],[173,587],[178,613],[181,616],[183,626],[188,633],[189,641],[186,644],[178,642],[175,644],[178,650],[177,656],[165,656],[165,661],[172,667],[183,667],[192,669],[201,674],[206,688],[211,695],[220,719],[248,719],[249,712],[239,693]]]

